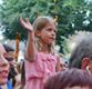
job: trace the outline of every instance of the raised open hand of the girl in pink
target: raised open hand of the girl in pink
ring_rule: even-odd
[[[30,23],[29,19],[25,18],[24,20],[22,18],[20,18],[20,23],[22,27],[24,27],[25,29],[28,29],[29,31],[33,31],[33,27],[32,24]]]

